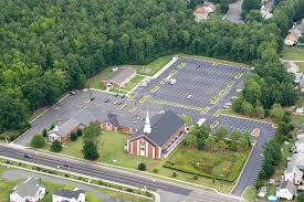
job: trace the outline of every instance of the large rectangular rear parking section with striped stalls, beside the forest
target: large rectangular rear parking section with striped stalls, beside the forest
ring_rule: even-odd
[[[212,107],[212,97],[219,96],[232,81],[235,82],[234,85],[243,83],[243,79],[234,77],[239,73],[245,74],[247,71],[241,67],[181,57],[158,78],[151,81],[147,87],[135,91],[135,94],[139,97],[149,95],[151,98],[188,106]],[[174,85],[164,82],[170,74],[175,74],[172,77],[176,84]],[[159,88],[154,92],[155,86]],[[227,91],[227,94],[229,92]]]

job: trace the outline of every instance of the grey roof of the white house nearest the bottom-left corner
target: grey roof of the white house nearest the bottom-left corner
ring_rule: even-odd
[[[18,184],[13,193],[19,194],[21,198],[34,196],[39,191],[39,188],[40,185],[38,183],[38,180],[34,178],[30,178],[27,181]]]

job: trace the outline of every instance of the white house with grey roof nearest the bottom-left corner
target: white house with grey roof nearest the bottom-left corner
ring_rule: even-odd
[[[45,195],[45,188],[40,185],[38,179],[29,178],[18,184],[10,194],[10,202],[36,202]]]

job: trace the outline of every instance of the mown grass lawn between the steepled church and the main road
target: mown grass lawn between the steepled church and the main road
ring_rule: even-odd
[[[168,178],[172,177],[174,170],[163,167],[164,163],[166,163],[167,159],[154,160],[125,153],[124,145],[127,139],[128,136],[126,135],[112,131],[103,131],[103,135],[101,137],[102,143],[99,145],[101,158],[98,159],[98,161],[130,169],[136,169],[138,162],[145,162],[148,172],[154,172]],[[48,145],[43,149],[50,150],[50,146]],[[67,142],[61,153],[83,159],[81,150],[82,138],[77,139],[77,141]],[[177,148],[171,153],[171,156],[174,156],[175,152],[179,152],[179,148]],[[233,188],[233,183],[231,182],[224,182],[205,177],[199,177],[197,180],[195,180],[193,174],[191,173],[184,173],[179,171],[175,172],[177,173],[176,179],[178,180],[214,188],[223,193],[229,193]]]

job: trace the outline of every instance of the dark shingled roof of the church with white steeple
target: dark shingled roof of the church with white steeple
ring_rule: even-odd
[[[167,110],[163,114],[155,115],[150,119],[150,134],[144,134],[144,127],[141,127],[137,132],[132,135],[130,139],[144,135],[153,142],[161,147],[182,125],[185,125],[185,121],[174,111]]]

